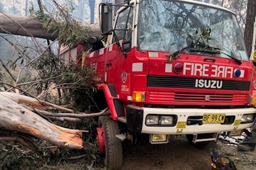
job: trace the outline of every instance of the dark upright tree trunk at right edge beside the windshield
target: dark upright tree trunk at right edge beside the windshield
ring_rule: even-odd
[[[247,54],[251,55],[252,50],[252,35],[253,35],[253,22],[256,17],[256,1],[248,0],[247,3],[247,15],[246,15],[246,26],[245,26],[245,47],[247,50]]]

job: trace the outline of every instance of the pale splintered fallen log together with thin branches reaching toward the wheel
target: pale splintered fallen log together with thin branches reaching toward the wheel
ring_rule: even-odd
[[[50,114],[46,110],[66,111],[66,113]],[[78,118],[107,115],[106,109],[96,114],[74,113],[74,110],[63,108],[56,104],[41,101],[29,96],[0,92],[0,141],[15,140],[30,148],[36,150],[36,146],[29,140],[29,137],[22,134],[37,137],[46,140],[59,148],[81,149],[83,141],[82,132],[78,129],[69,129],[57,126],[39,116],[69,118],[79,120]],[[58,115],[59,114],[59,115]],[[3,131],[1,129],[5,129]],[[20,133],[16,133],[20,132]]]

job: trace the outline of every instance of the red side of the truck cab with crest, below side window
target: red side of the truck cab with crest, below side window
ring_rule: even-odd
[[[91,53],[88,58],[91,66],[97,66],[95,70],[100,83],[114,84],[119,99],[122,101],[127,101],[127,96],[132,96],[133,91],[146,91],[147,55],[133,48],[132,51],[126,53],[127,58],[125,58],[116,43],[104,49],[104,54],[99,52],[101,49],[92,52],[93,54]],[[108,51],[107,55],[106,51]],[[132,71],[132,63],[143,63],[143,70]],[[125,81],[122,81],[123,73],[126,73]]]

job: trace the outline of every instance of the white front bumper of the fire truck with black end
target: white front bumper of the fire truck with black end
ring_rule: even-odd
[[[176,123],[170,126],[147,126],[147,115],[175,115]],[[232,124],[197,124],[188,125],[188,118],[191,116],[203,116],[204,114],[225,114],[226,117],[235,118]],[[200,133],[220,133],[245,129],[253,126],[254,122],[237,124],[244,114],[256,114],[256,108],[242,109],[166,109],[166,108],[146,108],[146,107],[126,107],[127,128],[135,133],[147,134],[200,134]],[[236,121],[237,120],[237,121]],[[186,123],[185,123],[186,122]],[[180,123],[183,126],[180,126]],[[177,126],[178,125],[178,126]],[[185,125],[185,126],[184,126]]]

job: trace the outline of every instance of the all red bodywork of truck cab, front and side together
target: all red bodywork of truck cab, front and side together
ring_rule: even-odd
[[[177,59],[168,61],[167,55],[169,53],[167,52],[139,52],[137,48],[132,48],[126,54],[127,58],[121,53],[118,45],[114,43],[104,48],[104,54],[101,49],[93,52],[93,55],[90,54],[89,57],[91,66],[97,66],[95,70],[100,77],[100,82],[114,84],[119,99],[124,103],[132,103],[132,92],[135,91],[146,92],[144,104],[153,105],[204,107],[246,106],[249,103],[249,90],[232,90],[232,81],[236,81],[238,84],[239,81],[251,81],[253,66],[250,62],[243,61],[239,65],[232,59],[194,54],[179,54]],[[176,63],[181,63],[184,67],[179,74],[173,68]],[[236,69],[242,70],[240,77],[234,77]],[[194,86],[193,88],[149,86],[147,85],[148,76],[213,81],[230,80],[228,86],[230,90],[195,88]],[[251,87],[253,86],[251,85]],[[205,96],[210,99],[207,100]]]

